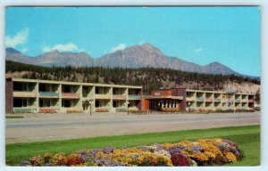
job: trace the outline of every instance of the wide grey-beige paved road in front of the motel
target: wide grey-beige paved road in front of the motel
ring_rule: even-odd
[[[6,119],[7,143],[260,124],[260,113],[127,115],[21,114]]]

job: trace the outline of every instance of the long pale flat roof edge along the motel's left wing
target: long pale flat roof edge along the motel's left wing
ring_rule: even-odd
[[[27,79],[27,78],[12,78],[15,82],[28,82],[28,83],[44,83],[44,84],[61,84],[61,85],[91,85],[91,86],[103,86],[103,87],[115,87],[115,88],[133,88],[141,89],[141,85],[109,85],[99,83],[81,83],[81,82],[68,82],[68,81],[54,81],[44,79]]]

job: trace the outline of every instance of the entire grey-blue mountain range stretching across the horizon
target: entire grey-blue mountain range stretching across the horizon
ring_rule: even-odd
[[[108,53],[100,58],[92,58],[87,53],[60,53],[56,50],[43,53],[36,57],[29,57],[13,48],[6,49],[6,60],[20,61],[39,66],[102,66],[122,68],[168,68],[182,71],[208,73],[208,74],[239,74],[219,62],[205,66],[194,62],[184,61],[177,57],[169,57],[151,44],[132,45],[124,50]]]

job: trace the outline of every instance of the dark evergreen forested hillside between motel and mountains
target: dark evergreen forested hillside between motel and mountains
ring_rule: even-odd
[[[103,67],[40,67],[15,61],[6,61],[6,77],[64,80],[72,82],[119,85],[144,85],[145,91],[172,85],[185,85],[192,89],[223,90],[228,83],[260,84],[258,77],[213,75],[155,68],[103,68]]]

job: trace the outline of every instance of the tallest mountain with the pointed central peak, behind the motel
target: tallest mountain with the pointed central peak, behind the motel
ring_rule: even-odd
[[[196,63],[183,61],[176,57],[168,57],[151,44],[132,45],[124,50],[106,54],[96,59],[96,65],[127,68],[149,66],[195,72],[202,69],[202,66]]]

